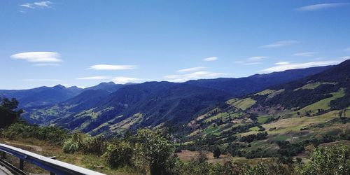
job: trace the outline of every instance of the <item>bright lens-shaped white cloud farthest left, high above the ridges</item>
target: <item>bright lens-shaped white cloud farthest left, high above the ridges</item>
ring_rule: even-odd
[[[39,66],[43,66],[43,63],[58,63],[62,62],[57,52],[21,52],[15,55],[11,55],[13,59],[22,59],[27,62],[37,62]],[[42,65],[40,65],[42,64]]]

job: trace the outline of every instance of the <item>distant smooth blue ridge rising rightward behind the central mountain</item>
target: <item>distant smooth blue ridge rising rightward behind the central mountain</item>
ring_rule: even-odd
[[[304,78],[330,69],[332,66],[318,66],[306,69],[292,69],[267,74],[255,74],[245,78],[216,78],[208,80],[189,80],[188,84],[209,87],[232,94],[233,97],[244,96],[264,90],[272,85],[281,85],[292,80]]]

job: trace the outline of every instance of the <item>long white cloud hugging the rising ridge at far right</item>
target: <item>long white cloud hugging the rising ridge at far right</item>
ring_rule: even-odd
[[[317,61],[317,62],[304,62],[304,63],[278,62],[276,63],[277,66],[272,66],[270,68],[263,69],[261,71],[265,73],[270,73],[274,71],[286,71],[289,69],[303,69],[303,68],[312,67],[312,66],[328,66],[328,65],[339,64],[340,62],[344,61],[345,58],[346,57],[343,57],[342,59],[325,60],[325,61]]]

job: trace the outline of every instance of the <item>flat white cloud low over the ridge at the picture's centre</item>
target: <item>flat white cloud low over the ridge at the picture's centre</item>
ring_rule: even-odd
[[[195,79],[202,79],[202,78],[218,78],[219,76],[223,76],[226,74],[227,73],[216,73],[211,71],[196,71],[193,73],[188,73],[183,75],[164,76],[164,78],[172,82],[184,82],[187,80],[195,80]]]

